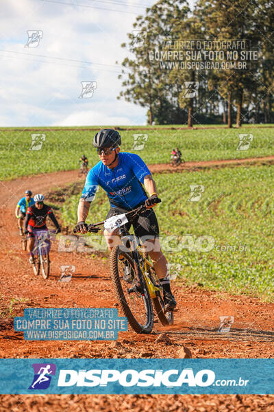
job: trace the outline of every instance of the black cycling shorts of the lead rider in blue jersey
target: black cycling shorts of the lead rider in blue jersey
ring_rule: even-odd
[[[139,206],[140,205],[136,206],[136,208]],[[136,208],[134,207],[134,209]],[[123,209],[122,207],[111,207],[105,219],[111,218],[116,214],[127,213],[127,211],[128,210]],[[143,211],[139,216],[136,216],[136,218],[132,222],[132,225],[134,233],[136,236],[138,236],[138,238],[145,236],[146,239],[154,239],[158,238],[159,236],[158,220],[153,209],[147,209]],[[129,230],[130,227],[130,222],[125,224],[125,229]]]

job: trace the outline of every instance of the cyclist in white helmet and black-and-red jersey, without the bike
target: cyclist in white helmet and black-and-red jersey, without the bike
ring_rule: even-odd
[[[27,209],[25,219],[25,234],[27,235],[27,251],[29,252],[29,263],[34,263],[32,249],[34,247],[34,234],[37,230],[48,230],[46,225],[47,216],[51,218],[55,227],[56,233],[60,233],[61,229],[56,220],[50,206],[45,205],[44,196],[36,194],[34,196],[35,204]]]

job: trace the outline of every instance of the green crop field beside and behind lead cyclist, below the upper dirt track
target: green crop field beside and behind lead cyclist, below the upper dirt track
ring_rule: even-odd
[[[154,177],[162,198],[155,209],[162,247],[169,262],[182,265],[180,277],[205,288],[274,301],[273,167]],[[189,200],[190,185],[203,185],[199,201]],[[69,196],[62,207],[63,222],[71,227],[78,201],[79,195]],[[108,208],[105,192],[99,190],[87,222],[103,220]]]

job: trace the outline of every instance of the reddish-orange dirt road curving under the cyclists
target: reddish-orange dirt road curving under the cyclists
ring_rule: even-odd
[[[274,157],[267,158],[273,161]],[[249,159],[250,161],[250,159]],[[254,159],[252,159],[254,161]],[[256,160],[258,161],[258,159]],[[265,159],[260,159],[265,161]],[[232,161],[238,162],[238,161]],[[243,161],[240,161],[241,163]],[[208,163],[208,162],[206,162]],[[223,164],[228,161],[223,161]],[[234,163],[234,164],[236,164]],[[191,166],[192,167],[192,166]],[[197,167],[197,165],[195,166]],[[207,166],[208,167],[208,166]],[[169,169],[153,165],[151,171]],[[14,208],[25,188],[47,193],[77,180],[77,172],[57,172],[0,183],[0,311],[12,298],[13,313],[23,308],[116,307],[108,260],[88,253],[61,253],[53,244],[51,275],[35,277],[21,251]],[[61,265],[74,265],[71,282],[58,282]],[[175,324],[155,323],[153,334],[119,333],[119,343],[108,341],[24,341],[8,316],[0,320],[1,358],[177,358],[182,345],[193,358],[273,358],[274,305],[247,296],[208,292],[201,286],[173,284],[178,302]],[[217,332],[220,316],[234,316],[229,333]],[[156,343],[166,332],[170,342]],[[0,396],[0,411],[274,411],[274,396]]]

